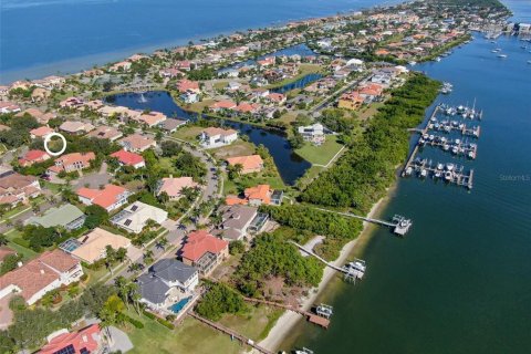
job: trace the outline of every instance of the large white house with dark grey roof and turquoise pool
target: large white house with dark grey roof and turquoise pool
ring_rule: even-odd
[[[136,279],[140,302],[162,313],[178,313],[196,295],[199,272],[176,259],[163,259]]]

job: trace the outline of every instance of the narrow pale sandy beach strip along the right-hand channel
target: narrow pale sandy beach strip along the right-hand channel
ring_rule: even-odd
[[[374,217],[382,207],[385,206],[384,201],[388,198],[389,191],[387,191],[387,196],[384,198],[379,199],[372,208],[371,211],[368,212],[367,217],[372,218]],[[352,252],[356,249],[356,246],[360,244],[360,239],[364,233],[367,232],[369,223],[368,222],[363,222],[363,230],[360,232],[360,236],[346,243],[341,252],[340,257],[337,257],[336,260],[332,262],[332,264],[341,267],[345,263],[346,259],[352,254]],[[302,299],[302,309],[304,310],[310,310],[312,304],[314,304],[315,300],[317,296],[325,290],[326,285],[330,283],[330,281],[336,277],[336,271],[326,267],[323,271],[323,278],[321,279],[321,282],[319,283],[317,288],[313,288],[310,290],[310,295],[308,298]],[[300,314],[296,314],[291,311],[285,311],[277,321],[274,326],[269,331],[268,336],[262,340],[259,345],[270,350],[272,352],[277,351],[282,342],[288,337],[290,330],[292,330],[299,321],[303,320]]]

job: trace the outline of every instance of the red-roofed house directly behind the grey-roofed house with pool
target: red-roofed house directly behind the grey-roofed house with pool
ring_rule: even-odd
[[[227,257],[229,242],[211,236],[206,230],[188,233],[180,250],[183,263],[196,267],[202,275],[208,275]]]

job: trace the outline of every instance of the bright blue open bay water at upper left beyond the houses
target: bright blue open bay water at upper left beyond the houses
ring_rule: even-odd
[[[0,82],[75,72],[139,51],[382,3],[382,0],[2,0]]]

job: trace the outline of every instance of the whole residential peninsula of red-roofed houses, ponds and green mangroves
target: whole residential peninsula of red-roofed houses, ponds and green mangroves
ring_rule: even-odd
[[[139,339],[310,311],[325,266],[298,246],[335,261],[363,228],[339,211],[385,195],[440,88],[415,65],[507,18],[415,3],[0,87],[6,353],[163,352]]]

